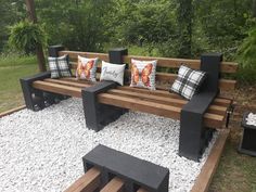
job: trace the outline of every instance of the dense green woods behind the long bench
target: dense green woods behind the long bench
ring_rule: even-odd
[[[124,46],[137,54],[192,59],[218,51],[242,63],[246,49],[240,47],[252,41],[256,26],[256,0],[35,0],[35,5],[48,44],[71,50]],[[27,17],[25,1],[0,0],[0,51],[10,52],[9,26]],[[253,57],[251,69],[255,63]]]

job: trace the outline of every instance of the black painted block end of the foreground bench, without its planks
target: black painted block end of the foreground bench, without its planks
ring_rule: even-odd
[[[82,157],[85,172],[91,167],[101,170],[102,187],[114,177],[123,179],[125,191],[133,192],[140,187],[149,192],[168,192],[169,170],[153,163],[98,145]]]

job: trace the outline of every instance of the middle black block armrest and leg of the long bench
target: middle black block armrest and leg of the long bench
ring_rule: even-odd
[[[112,81],[101,81],[93,87],[81,90],[86,124],[89,129],[99,131],[124,114],[123,108],[102,104],[97,101],[99,93],[105,92],[116,86]]]

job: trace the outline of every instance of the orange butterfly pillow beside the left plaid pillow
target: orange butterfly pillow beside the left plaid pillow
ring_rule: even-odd
[[[97,81],[97,64],[99,59],[88,59],[78,55],[78,65],[76,69],[76,77],[78,79],[87,79],[90,81]]]

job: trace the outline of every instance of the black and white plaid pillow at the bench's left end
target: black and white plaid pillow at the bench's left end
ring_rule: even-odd
[[[48,57],[51,78],[71,77],[72,71],[68,64],[68,55]]]

